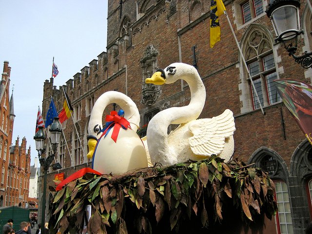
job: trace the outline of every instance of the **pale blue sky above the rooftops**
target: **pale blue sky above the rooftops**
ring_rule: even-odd
[[[14,85],[12,143],[26,137],[34,165],[38,106],[53,57],[59,88],[106,51],[107,0],[0,0],[0,6],[0,69],[9,61],[10,96]]]

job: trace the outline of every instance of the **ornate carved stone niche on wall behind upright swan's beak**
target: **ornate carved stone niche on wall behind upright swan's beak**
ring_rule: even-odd
[[[161,95],[159,85],[146,84],[145,79],[150,78],[157,69],[158,51],[153,45],[149,45],[140,59],[142,67],[142,97],[141,103],[147,106],[154,104]]]

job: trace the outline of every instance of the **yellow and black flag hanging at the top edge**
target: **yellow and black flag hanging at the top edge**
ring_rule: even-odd
[[[215,43],[220,40],[219,16],[225,11],[222,0],[211,0],[210,6],[210,47],[213,48]]]

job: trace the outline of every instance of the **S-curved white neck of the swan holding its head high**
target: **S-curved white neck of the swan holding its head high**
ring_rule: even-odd
[[[147,143],[150,155],[170,156],[175,155],[174,149],[169,148],[167,129],[170,124],[187,123],[199,117],[205,105],[206,90],[199,75],[184,76],[191,92],[191,101],[187,106],[172,107],[163,110],[151,119],[147,129]],[[152,142],[153,143],[149,143]],[[157,143],[155,142],[157,141]],[[157,160],[157,159],[156,159]],[[168,158],[158,159],[170,160]],[[174,160],[167,164],[176,163]]]

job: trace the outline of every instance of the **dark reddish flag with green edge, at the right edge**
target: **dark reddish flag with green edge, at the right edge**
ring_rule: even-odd
[[[285,106],[312,144],[312,86],[293,79],[276,79],[274,83]]]

